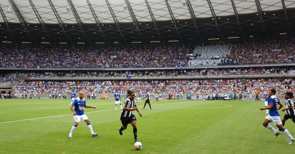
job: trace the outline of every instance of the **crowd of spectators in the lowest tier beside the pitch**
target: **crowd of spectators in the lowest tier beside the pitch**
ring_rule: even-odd
[[[275,88],[278,93],[295,92],[292,78],[259,78],[259,79],[169,79],[169,80],[85,80],[85,81],[20,81],[10,76],[1,75],[2,83],[12,83],[14,93],[71,93],[86,91],[95,93],[115,93],[119,90],[150,92],[160,90],[162,94],[173,93],[262,93],[266,89]]]

